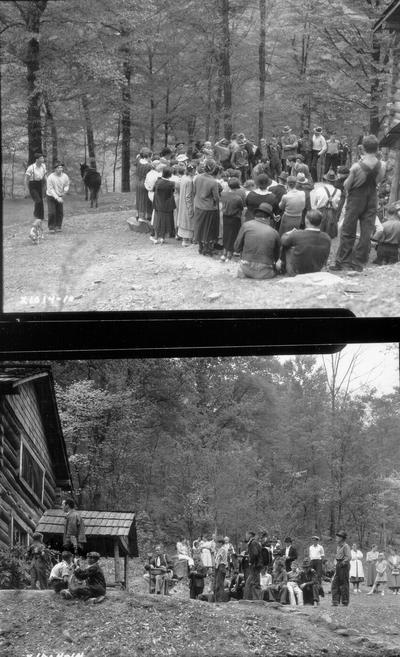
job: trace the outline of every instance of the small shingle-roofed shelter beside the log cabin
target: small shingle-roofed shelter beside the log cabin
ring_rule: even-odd
[[[120,551],[130,557],[138,557],[136,519],[134,513],[124,511],[81,511],[85,523],[88,550],[96,550],[102,556],[114,556],[114,540],[118,539]],[[46,543],[60,546],[64,534],[65,514],[62,509],[48,509],[40,518],[36,531],[44,535]]]

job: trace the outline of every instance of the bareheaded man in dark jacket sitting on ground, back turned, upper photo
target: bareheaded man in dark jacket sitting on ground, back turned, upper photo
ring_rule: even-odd
[[[282,235],[281,263],[279,263],[282,272],[286,270],[289,276],[311,274],[321,271],[326,265],[331,238],[321,232],[321,221],[322,214],[319,210],[309,210],[306,214],[304,230],[293,228]]]

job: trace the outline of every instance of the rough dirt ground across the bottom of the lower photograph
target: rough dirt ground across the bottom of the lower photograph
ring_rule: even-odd
[[[0,591],[0,655],[83,657],[395,657],[400,596],[352,595],[349,607],[292,610],[264,602],[149,595],[140,575],[131,592],[109,590],[100,605],[63,601],[52,591]]]

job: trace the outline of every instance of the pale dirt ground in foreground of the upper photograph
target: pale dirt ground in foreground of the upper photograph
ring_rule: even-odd
[[[237,259],[221,263],[173,239],[154,245],[130,230],[133,208],[132,194],[103,194],[97,210],[82,195],[68,195],[62,233],[46,229],[36,246],[28,238],[32,201],[5,201],[4,311],[347,308],[358,317],[400,315],[400,264],[314,275],[313,282],[240,280]]]

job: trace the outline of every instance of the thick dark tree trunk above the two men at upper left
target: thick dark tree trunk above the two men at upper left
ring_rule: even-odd
[[[28,81],[28,161],[34,162],[35,153],[42,151],[41,92],[36,87],[36,78],[40,70],[40,19],[46,9],[47,0],[15,3],[15,6],[20,12],[26,25],[26,31],[30,36],[26,46],[24,63],[26,64],[26,79]]]

